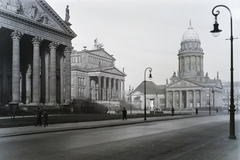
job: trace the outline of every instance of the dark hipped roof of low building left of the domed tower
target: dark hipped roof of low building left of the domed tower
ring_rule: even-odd
[[[156,85],[152,81],[146,81],[146,94],[164,94],[166,85]],[[144,93],[144,81],[133,91]]]

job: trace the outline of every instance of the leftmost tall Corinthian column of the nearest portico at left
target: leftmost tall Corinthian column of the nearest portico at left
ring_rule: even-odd
[[[12,46],[12,103],[20,102],[20,38],[23,35],[20,31],[11,34]]]

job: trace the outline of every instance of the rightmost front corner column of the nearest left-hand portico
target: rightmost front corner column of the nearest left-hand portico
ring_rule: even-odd
[[[65,48],[64,54],[66,56],[65,63],[65,104],[70,104],[71,102],[71,52],[73,47],[67,46]]]

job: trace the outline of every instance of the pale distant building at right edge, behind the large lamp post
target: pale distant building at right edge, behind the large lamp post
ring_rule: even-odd
[[[222,106],[228,108],[230,106],[230,82],[223,82]],[[234,82],[234,105],[236,109],[240,105],[240,82]]]

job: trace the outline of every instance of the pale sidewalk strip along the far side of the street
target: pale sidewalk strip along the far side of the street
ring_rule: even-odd
[[[91,122],[77,122],[77,123],[64,123],[64,124],[50,124],[47,127],[43,126],[25,126],[25,127],[14,127],[14,128],[1,128],[1,137],[11,137],[20,135],[30,135],[30,134],[40,134],[40,133],[50,133],[59,131],[70,131],[70,130],[81,130],[81,129],[93,129],[100,127],[114,127],[120,125],[129,125],[137,123],[147,123],[154,121],[164,121],[172,119],[182,119],[182,118],[193,118],[207,115],[175,115],[175,116],[162,116],[162,117],[147,117],[145,121],[143,118],[131,118],[128,120],[105,120],[105,121],[91,121]]]

